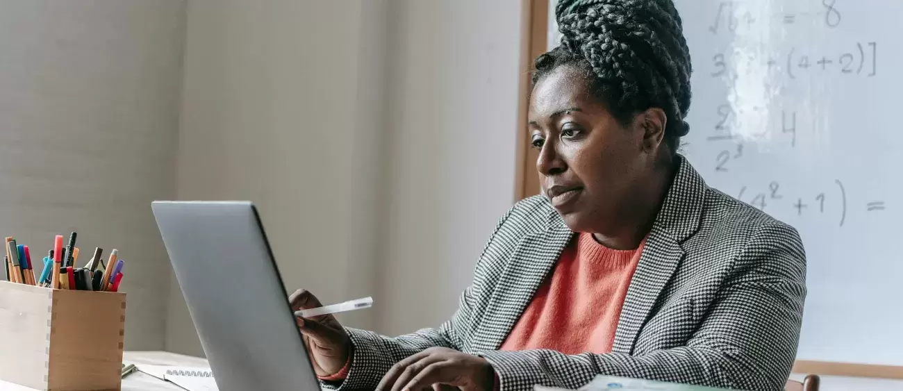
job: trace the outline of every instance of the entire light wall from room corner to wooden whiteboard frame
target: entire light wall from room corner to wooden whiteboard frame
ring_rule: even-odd
[[[254,200],[288,286],[374,296],[349,325],[437,325],[513,200],[519,31],[518,0],[191,0],[178,196]],[[167,330],[201,353],[176,284]]]

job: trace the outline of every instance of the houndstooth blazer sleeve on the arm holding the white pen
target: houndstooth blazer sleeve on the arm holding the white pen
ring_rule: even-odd
[[[485,258],[493,240],[498,236],[498,231],[505,224],[513,210],[514,208],[508,210],[505,216],[499,219],[498,225],[491,237],[489,237],[486,247],[483,247],[483,254],[479,257],[480,262]],[[478,269],[479,267],[480,265],[477,265]],[[458,310],[454,312],[450,320],[442,323],[439,328],[418,330],[395,338],[382,336],[368,330],[346,328],[345,330],[348,332],[353,345],[348,377],[341,382],[321,381],[321,386],[340,391],[372,390],[379,384],[382,377],[386,375],[386,372],[402,359],[433,347],[461,350],[465,345],[465,341],[462,339],[467,338],[467,336],[461,335],[460,330],[468,330],[462,325],[473,321],[471,314],[474,300],[476,297],[479,297],[479,291],[482,286],[483,284],[480,281],[474,281],[473,284],[470,284],[461,293]]]

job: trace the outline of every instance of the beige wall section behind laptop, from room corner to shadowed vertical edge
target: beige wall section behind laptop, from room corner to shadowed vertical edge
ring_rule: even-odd
[[[284,282],[375,291],[385,2],[191,0],[178,197],[255,201]],[[240,316],[240,314],[237,314]],[[375,312],[343,317],[370,328]],[[177,284],[166,348],[202,354]]]

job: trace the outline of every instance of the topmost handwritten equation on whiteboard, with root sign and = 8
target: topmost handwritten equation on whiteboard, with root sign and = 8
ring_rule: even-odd
[[[746,2],[722,1],[718,4],[714,22],[709,26],[709,32],[718,34],[721,32],[736,33],[740,27],[749,28],[756,23],[784,23],[795,24],[802,21],[815,21],[824,23],[828,28],[834,28],[841,24],[843,15],[835,7],[837,0],[820,0],[821,10],[817,12],[782,13],[759,16],[749,11]],[[764,21],[763,21],[764,19]]]

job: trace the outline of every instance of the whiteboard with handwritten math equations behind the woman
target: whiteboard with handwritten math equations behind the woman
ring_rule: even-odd
[[[803,238],[797,359],[903,366],[903,0],[675,4],[694,65],[682,153]]]

